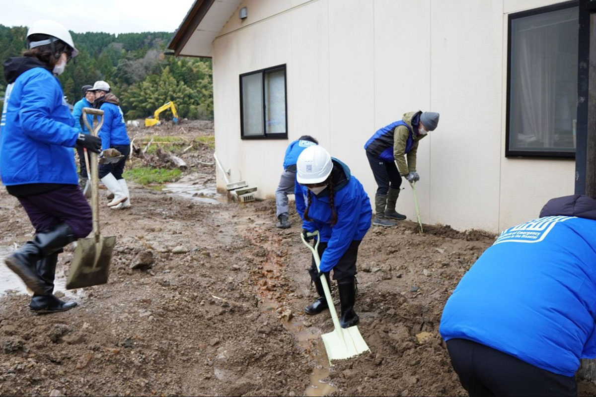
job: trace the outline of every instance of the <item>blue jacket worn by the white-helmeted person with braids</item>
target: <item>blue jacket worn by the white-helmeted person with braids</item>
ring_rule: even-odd
[[[328,189],[315,195],[296,182],[296,211],[303,219],[302,227],[309,232],[319,231],[322,242],[327,249],[321,257],[321,271],[330,271],[347,251],[353,240],[362,240],[371,227],[373,210],[370,199],[362,184],[350,174],[350,168],[343,162],[333,159],[331,172],[334,183],[334,207],[337,212],[337,223],[331,226],[331,207]],[[311,196],[311,207],[308,211],[312,221],[304,220],[304,211]]]

